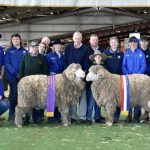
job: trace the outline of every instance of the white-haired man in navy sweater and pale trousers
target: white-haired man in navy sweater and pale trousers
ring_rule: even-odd
[[[68,44],[65,48],[64,62],[65,67],[68,67],[72,63],[79,63],[84,71],[88,70],[88,50],[87,47],[82,44],[82,34],[80,32],[75,32],[73,34],[74,43]],[[86,111],[87,111],[87,100],[86,92],[82,94],[80,100],[80,119],[81,122],[86,121]],[[72,121],[77,120],[77,106],[74,105],[70,109]]]

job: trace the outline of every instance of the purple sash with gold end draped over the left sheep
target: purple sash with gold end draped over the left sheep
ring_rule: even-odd
[[[47,105],[46,105],[46,116],[53,117],[55,109],[55,86],[56,80],[55,75],[48,76],[48,87],[47,87]]]

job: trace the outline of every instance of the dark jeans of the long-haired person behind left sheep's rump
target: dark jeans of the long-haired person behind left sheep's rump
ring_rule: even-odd
[[[9,95],[9,117],[15,115],[15,107],[17,105],[17,84],[19,80],[8,80],[10,86],[10,95]]]

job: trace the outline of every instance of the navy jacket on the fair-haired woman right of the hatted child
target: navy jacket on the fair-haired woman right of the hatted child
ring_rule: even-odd
[[[116,52],[111,49],[106,50],[104,53],[107,55],[105,60],[106,69],[110,73],[122,75],[123,53],[119,49]]]

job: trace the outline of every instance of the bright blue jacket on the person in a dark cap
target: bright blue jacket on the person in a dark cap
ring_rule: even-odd
[[[128,49],[124,53],[122,70],[123,74],[144,74],[146,71],[145,55],[140,49],[134,52]]]

